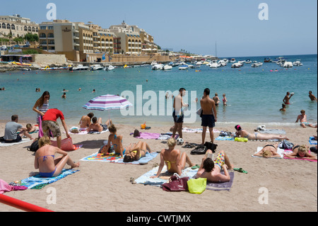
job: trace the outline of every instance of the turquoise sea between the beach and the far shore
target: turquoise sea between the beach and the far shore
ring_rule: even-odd
[[[302,66],[283,68],[273,62],[264,62],[265,57],[275,60],[285,57],[288,61],[301,60]],[[224,57],[225,58],[225,57]],[[228,57],[226,57],[228,58]],[[223,59],[220,57],[220,59]],[[201,118],[196,115],[204,89],[211,90],[220,100],[226,94],[228,106],[217,107],[218,125],[267,125],[295,126],[295,120],[303,109],[307,120],[317,123],[317,102],[309,98],[309,91],[317,96],[317,55],[288,55],[262,57],[235,57],[239,60],[264,62],[261,67],[245,64],[240,68],[225,67],[212,69],[206,65],[199,68],[169,71],[155,71],[151,66],[119,67],[113,71],[69,70],[0,73],[0,120],[11,120],[19,115],[23,122],[35,123],[36,113],[32,110],[35,101],[43,91],[49,91],[50,108],[59,108],[66,123],[76,126],[82,115],[93,112],[103,123],[111,118],[114,123],[139,126],[173,125],[172,97],[180,88],[187,90],[184,103],[185,125],[197,128]],[[35,89],[40,88],[41,92]],[[81,91],[78,89],[81,88]],[[61,98],[63,90],[66,98]],[[93,90],[95,89],[95,92]],[[281,109],[287,92],[295,93],[290,99],[287,111]],[[124,96],[132,107],[123,110],[88,111],[83,106],[91,99],[106,94]],[[165,98],[167,94],[167,98]],[[199,101],[195,101],[198,98]],[[299,124],[298,124],[299,125]]]

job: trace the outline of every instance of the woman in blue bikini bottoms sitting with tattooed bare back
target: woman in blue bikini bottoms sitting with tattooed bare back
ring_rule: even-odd
[[[55,154],[62,154],[55,159]],[[39,140],[39,149],[35,152],[35,169],[39,169],[42,177],[55,177],[61,174],[64,166],[68,164],[71,169],[79,167],[79,163],[74,163],[67,152],[51,145],[49,137],[44,136]]]

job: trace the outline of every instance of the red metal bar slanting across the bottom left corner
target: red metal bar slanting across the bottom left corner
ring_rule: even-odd
[[[47,210],[37,205],[33,205],[30,203],[25,203],[22,200],[18,200],[16,198],[11,198],[8,196],[0,195],[0,203],[4,203],[6,205],[11,205],[14,208],[18,208],[20,210],[26,212],[53,212],[52,210]]]

